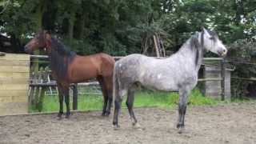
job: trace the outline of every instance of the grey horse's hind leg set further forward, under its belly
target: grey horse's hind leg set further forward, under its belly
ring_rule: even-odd
[[[128,108],[132,124],[133,124],[133,126],[136,126],[137,119],[135,118],[134,109],[133,109],[133,106],[134,106],[134,90],[128,90],[126,106]]]

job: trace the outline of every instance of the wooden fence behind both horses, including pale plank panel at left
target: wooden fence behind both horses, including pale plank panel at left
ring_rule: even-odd
[[[56,82],[49,78],[50,69],[40,68],[30,72],[30,59],[47,59],[48,56],[27,54],[1,54],[0,57],[0,115],[24,114],[28,112],[28,103],[42,110],[42,101],[46,89],[56,89]],[[122,57],[114,57],[118,60]],[[204,58],[204,61],[221,63],[221,74],[218,78],[200,78],[199,82],[220,82],[222,100],[225,98],[226,66],[222,58]],[[98,82],[71,84],[73,92],[73,109],[78,107],[78,86],[97,86]]]

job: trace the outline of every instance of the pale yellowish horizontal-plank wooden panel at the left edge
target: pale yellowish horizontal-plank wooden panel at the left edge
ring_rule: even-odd
[[[0,56],[0,115],[28,113],[30,55]]]

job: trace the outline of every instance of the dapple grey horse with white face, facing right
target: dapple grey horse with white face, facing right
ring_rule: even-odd
[[[184,129],[186,104],[190,90],[198,82],[198,70],[202,64],[204,51],[210,50],[221,56],[227,49],[218,35],[202,28],[202,32],[192,35],[169,58],[157,59],[142,54],[130,54],[121,58],[114,65],[114,119],[113,125],[118,128],[118,113],[122,98],[127,94],[128,107],[133,126],[138,126],[134,115],[134,90],[143,86],[151,90],[178,91],[178,132]]]

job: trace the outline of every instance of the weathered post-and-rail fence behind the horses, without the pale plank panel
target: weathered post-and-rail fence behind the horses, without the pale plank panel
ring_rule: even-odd
[[[46,55],[30,55],[30,58],[40,58],[40,59],[47,59],[48,56]],[[122,57],[114,57],[114,59],[116,61],[118,61],[118,59],[120,59]],[[226,78],[226,66],[225,66],[225,61],[223,58],[203,58],[203,61],[218,61],[220,63],[220,74],[218,77],[206,77],[206,78],[199,78],[198,82],[205,82],[205,87],[206,87],[206,94],[210,94],[207,93],[208,91],[212,91],[211,89],[214,89],[213,85],[218,85],[220,88],[220,94],[221,94],[221,99],[224,100],[226,95],[229,95],[228,93],[226,93],[226,86],[230,86],[229,84],[226,84],[227,82],[230,82],[229,78]],[[30,98],[32,98],[32,100],[30,100],[30,102],[34,102],[35,104],[38,106],[38,110],[42,110],[42,99],[43,99],[43,95],[44,91],[46,90],[47,87],[50,86],[56,86],[56,82],[49,82],[49,80],[47,81],[46,75],[49,74],[49,70],[48,72],[46,72],[46,70],[41,70],[41,72],[39,72],[38,77],[39,78],[35,78],[35,81],[31,81],[30,83]],[[41,76],[40,76],[41,75]],[[49,77],[49,76],[48,76]],[[40,78],[45,78],[44,80],[40,79]],[[34,79],[34,78],[33,78]],[[38,79],[38,80],[37,80]],[[49,79],[49,78],[48,78]],[[227,81],[228,80],[228,81]],[[78,83],[78,86],[95,86],[98,85],[98,82],[86,82],[86,83]],[[78,88],[77,88],[77,84],[71,84],[70,87],[72,88],[71,90],[73,90],[73,109],[77,110],[77,104],[78,104]],[[34,91],[38,91],[38,92],[34,92]],[[34,94],[34,95],[33,95]],[[228,100],[230,100],[230,97],[227,97]],[[33,100],[35,99],[35,100]]]

